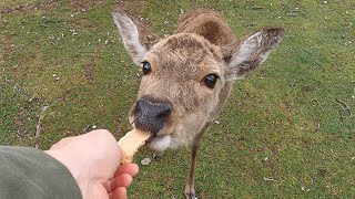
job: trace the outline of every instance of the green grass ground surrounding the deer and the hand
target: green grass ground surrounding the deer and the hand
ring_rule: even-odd
[[[207,130],[199,198],[355,197],[351,0],[0,1],[0,144],[47,149],[92,126],[118,138],[130,129],[140,72],[112,22],[116,7],[159,35],[172,33],[193,7],[221,11],[237,36],[267,25],[286,30],[263,67],[235,84],[220,124]],[[182,148],[141,166],[130,198],[182,198],[187,165]]]

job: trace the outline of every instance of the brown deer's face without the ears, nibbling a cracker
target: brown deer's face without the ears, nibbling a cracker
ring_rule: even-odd
[[[150,130],[151,148],[189,143],[206,123],[224,84],[220,49],[196,34],[175,34],[142,59],[143,76],[130,122]]]

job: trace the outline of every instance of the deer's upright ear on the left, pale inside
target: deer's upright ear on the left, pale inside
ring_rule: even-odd
[[[124,13],[113,12],[113,20],[118,27],[124,48],[131,55],[136,65],[141,65],[142,59],[148,49],[140,42],[140,35],[136,25]]]

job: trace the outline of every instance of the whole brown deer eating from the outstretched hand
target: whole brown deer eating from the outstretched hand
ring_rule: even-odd
[[[122,11],[112,15],[125,50],[143,73],[129,122],[152,134],[145,146],[158,158],[168,148],[191,148],[184,196],[194,199],[204,132],[221,113],[233,83],[266,60],[284,29],[263,28],[237,40],[220,12],[200,8],[183,13],[173,34],[159,38]]]

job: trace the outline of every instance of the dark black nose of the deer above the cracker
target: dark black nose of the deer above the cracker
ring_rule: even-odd
[[[151,102],[140,98],[135,105],[134,125],[139,129],[156,134],[165,126],[171,112],[172,106],[169,102]]]

